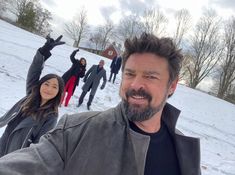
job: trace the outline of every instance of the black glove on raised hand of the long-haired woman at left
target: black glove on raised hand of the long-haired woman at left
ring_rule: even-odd
[[[53,38],[51,38],[50,36],[47,36],[46,39],[46,43],[39,48],[39,52],[45,56],[45,61],[51,56],[51,50],[55,47],[55,46],[58,46],[58,45],[62,45],[64,44],[65,42],[63,41],[60,41],[61,38],[63,36],[60,35],[56,40],[54,40]]]

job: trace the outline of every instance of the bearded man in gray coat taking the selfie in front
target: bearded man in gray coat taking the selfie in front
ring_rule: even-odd
[[[121,102],[65,115],[39,144],[0,159],[0,174],[200,175],[200,140],[184,136],[167,103],[183,55],[170,38],[143,33],[124,43]],[[20,165],[20,166],[17,166]]]

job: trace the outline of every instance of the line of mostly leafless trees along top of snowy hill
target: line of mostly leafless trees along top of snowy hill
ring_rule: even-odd
[[[51,32],[52,15],[38,0],[0,0],[0,15],[7,9],[15,14],[20,27],[44,36]],[[107,17],[100,26],[89,25],[87,11],[82,8],[64,24],[64,31],[74,40],[75,47],[89,41],[100,51],[111,43],[122,48],[126,38],[142,32],[172,37],[184,54],[180,79],[197,88],[206,77],[212,77],[213,94],[235,103],[235,18],[223,20],[215,10],[205,9],[193,24],[190,12],[181,9],[174,14],[170,33],[168,26],[169,19],[158,7],[123,16],[117,25]]]

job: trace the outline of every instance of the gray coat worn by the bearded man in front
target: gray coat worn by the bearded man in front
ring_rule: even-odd
[[[181,175],[200,175],[199,139],[177,132],[178,109],[166,104],[163,112]],[[1,158],[0,174],[144,175],[149,143],[149,136],[129,127],[122,104],[103,112],[65,115],[39,144]]]

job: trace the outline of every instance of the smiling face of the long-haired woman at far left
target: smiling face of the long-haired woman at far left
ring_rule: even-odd
[[[51,78],[41,84],[41,105],[56,97],[59,92],[59,83],[56,78]]]

